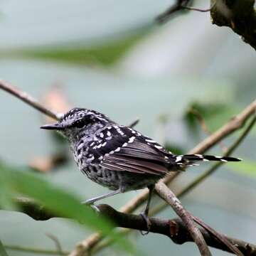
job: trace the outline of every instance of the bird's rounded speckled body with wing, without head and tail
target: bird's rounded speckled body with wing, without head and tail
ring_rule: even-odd
[[[73,146],[80,171],[92,181],[116,190],[140,189],[156,183],[170,169],[169,154],[136,130],[107,124]]]

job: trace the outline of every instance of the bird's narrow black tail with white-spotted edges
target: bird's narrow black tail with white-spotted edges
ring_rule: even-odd
[[[230,157],[230,156],[209,156],[209,155],[202,155],[202,154],[186,154],[186,155],[177,155],[174,156],[175,164],[178,166],[196,166],[198,164],[195,161],[242,161],[242,159]]]

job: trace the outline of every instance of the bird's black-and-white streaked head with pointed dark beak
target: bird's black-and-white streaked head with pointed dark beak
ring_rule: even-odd
[[[55,124],[46,124],[41,129],[56,130],[74,142],[80,137],[94,134],[97,129],[104,127],[110,119],[94,110],[84,108],[73,108],[69,110]]]

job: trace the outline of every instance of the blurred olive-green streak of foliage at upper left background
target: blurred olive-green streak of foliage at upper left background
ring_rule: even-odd
[[[42,58],[63,63],[111,65],[147,33],[149,28],[144,28],[130,36],[92,46],[51,46],[50,48],[0,51],[0,57]]]

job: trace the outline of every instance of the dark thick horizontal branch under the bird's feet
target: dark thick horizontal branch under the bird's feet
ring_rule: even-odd
[[[35,220],[48,220],[50,218],[58,217],[56,215],[48,213],[46,208],[38,207],[38,205],[33,200],[25,200],[25,198],[18,198],[16,200],[16,203],[18,203],[18,206],[20,206],[20,209],[23,213],[26,213]],[[144,221],[141,215],[122,213],[117,210],[114,210],[114,208],[106,204],[101,204],[97,207],[100,209],[100,214],[104,215],[105,218],[112,220],[112,223],[114,223],[116,227],[132,228],[134,230],[144,231],[147,230],[146,222]],[[188,229],[186,228],[186,225],[183,223],[183,220],[180,220],[178,218],[174,218],[172,220],[150,218],[150,221],[151,233],[159,233],[161,235],[166,235],[178,245],[182,245],[185,242],[193,242],[193,238],[188,232]],[[224,250],[226,252],[232,252],[226,245],[223,244],[223,242],[220,242],[220,240],[218,240],[218,238],[216,238],[215,235],[208,233],[208,231],[206,231],[206,229],[204,228],[199,228],[199,230],[202,233],[203,238],[206,240],[208,246]],[[244,255],[248,255],[246,253],[249,252],[250,250],[250,255],[256,256],[256,245],[252,245],[248,242],[244,242],[242,240],[238,240],[235,238],[229,238],[227,236],[225,236],[225,238],[230,243],[236,245],[236,247],[238,247],[238,249]]]

